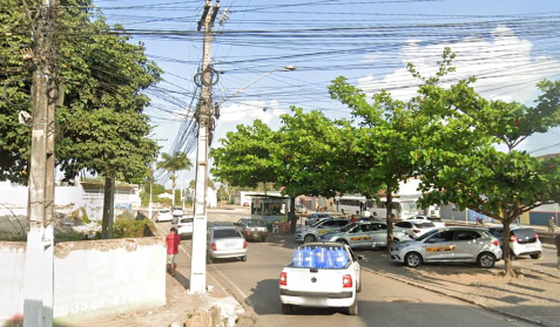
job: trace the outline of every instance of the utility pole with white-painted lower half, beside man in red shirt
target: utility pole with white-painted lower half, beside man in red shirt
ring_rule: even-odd
[[[199,73],[200,100],[197,108],[198,148],[197,175],[195,185],[193,242],[190,259],[190,292],[206,292],[206,197],[208,180],[208,147],[213,128],[212,85],[217,82],[217,74],[212,69],[212,26],[220,10],[220,0],[212,6],[212,0],[206,0],[202,17],[198,22],[198,31],[204,27],[204,47],[202,71]],[[214,80],[215,79],[215,80]]]

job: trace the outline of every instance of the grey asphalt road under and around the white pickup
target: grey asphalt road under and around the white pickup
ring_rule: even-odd
[[[209,212],[210,222],[234,222],[244,213]],[[190,253],[190,241],[181,243]],[[362,272],[363,291],[358,295],[358,316],[344,310],[297,307],[283,315],[278,295],[278,276],[292,259],[294,242],[249,243],[246,262],[236,259],[210,263],[208,271],[226,287],[246,309],[238,326],[533,326],[488,312],[465,302],[433,294],[391,278]],[[371,253],[360,253],[368,256]],[[369,265],[367,259],[364,266]],[[370,267],[371,268],[371,267]]]

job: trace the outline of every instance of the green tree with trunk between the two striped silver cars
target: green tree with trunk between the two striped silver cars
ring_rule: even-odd
[[[388,248],[393,244],[393,194],[399,191],[399,181],[417,174],[412,151],[428,123],[413,100],[402,102],[382,90],[369,103],[367,95],[349,85],[340,76],[329,86],[333,99],[347,104],[357,119],[353,130],[353,148],[348,161],[355,189],[367,198],[376,198],[385,190]]]

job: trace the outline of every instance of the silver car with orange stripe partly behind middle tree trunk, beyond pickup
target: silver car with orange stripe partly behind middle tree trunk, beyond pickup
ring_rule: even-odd
[[[407,230],[393,229],[395,242],[410,239]],[[387,224],[384,222],[358,222],[344,226],[338,232],[321,235],[320,241],[348,244],[351,248],[372,248],[387,246]]]

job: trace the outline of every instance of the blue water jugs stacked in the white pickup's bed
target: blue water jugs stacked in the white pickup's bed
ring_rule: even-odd
[[[348,252],[342,247],[298,247],[293,252],[293,266],[304,268],[342,269],[348,263]]]

